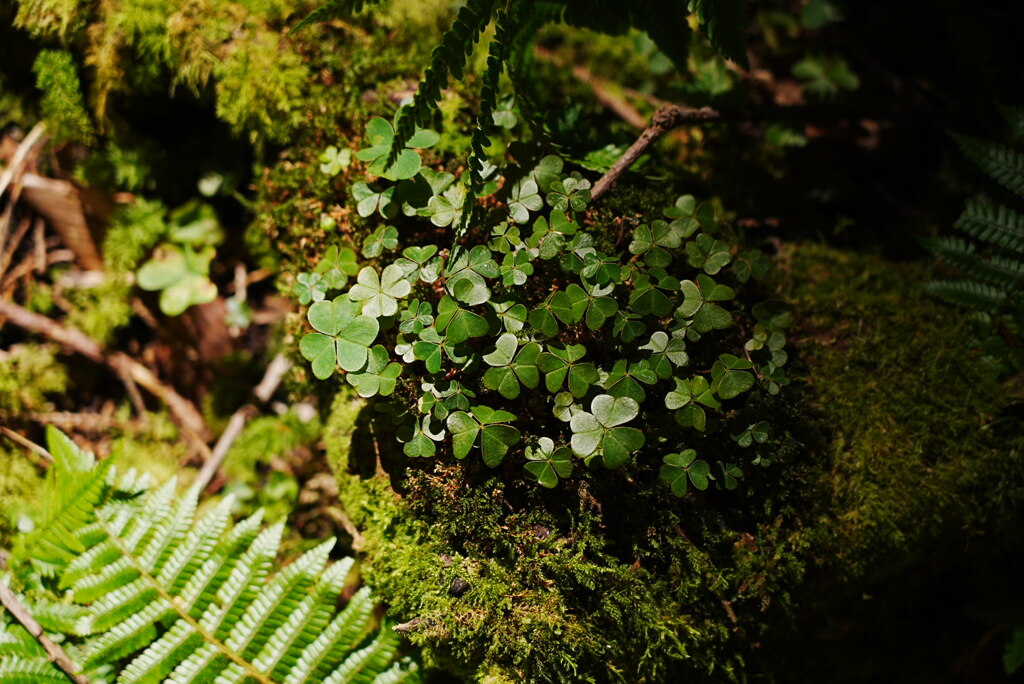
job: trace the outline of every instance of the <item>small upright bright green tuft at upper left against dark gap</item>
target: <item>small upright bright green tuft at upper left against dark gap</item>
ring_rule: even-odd
[[[36,85],[43,91],[43,116],[57,142],[90,143],[92,121],[82,102],[82,86],[71,52],[43,50],[33,66]]]

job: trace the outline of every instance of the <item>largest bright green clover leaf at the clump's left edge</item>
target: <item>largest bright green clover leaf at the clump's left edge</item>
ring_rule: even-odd
[[[317,332],[299,341],[299,351],[312,364],[316,378],[330,377],[336,361],[348,372],[366,365],[369,347],[380,331],[376,318],[358,315],[358,305],[344,297],[316,302],[306,317]]]

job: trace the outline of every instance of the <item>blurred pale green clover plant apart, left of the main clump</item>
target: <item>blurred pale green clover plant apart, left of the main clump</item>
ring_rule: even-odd
[[[171,212],[167,241],[136,274],[138,287],[160,292],[160,310],[180,315],[189,306],[217,298],[210,281],[215,246],[224,239],[213,207],[191,201]]]

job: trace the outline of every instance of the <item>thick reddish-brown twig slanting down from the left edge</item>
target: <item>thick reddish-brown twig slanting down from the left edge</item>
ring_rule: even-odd
[[[154,396],[167,404],[168,411],[180,427],[186,432],[198,435],[201,440],[209,430],[206,421],[193,403],[165,385],[153,372],[123,351],[103,353],[102,348],[85,333],[62,326],[44,315],[14,304],[0,301],[0,316],[7,318],[15,326],[39,333],[54,342],[70,347],[86,358],[97,364],[104,364],[119,377],[127,376],[146,389]]]

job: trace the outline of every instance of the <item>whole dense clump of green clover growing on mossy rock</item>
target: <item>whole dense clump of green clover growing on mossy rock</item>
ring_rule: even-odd
[[[352,187],[364,240],[297,277],[313,375],[388,397],[409,458],[480,459],[544,487],[659,468],[682,497],[734,488],[751,452],[767,464],[750,399],[787,382],[790,318],[740,297],[768,260],[738,250],[711,203],[683,196],[624,239],[558,157],[485,169],[474,191],[423,166],[430,131],[385,168],[393,131],[373,120],[356,155],[377,176]]]

